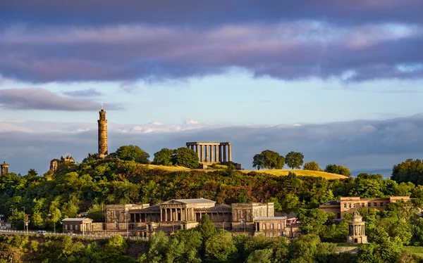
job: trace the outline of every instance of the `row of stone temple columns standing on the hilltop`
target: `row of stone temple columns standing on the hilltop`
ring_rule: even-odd
[[[232,161],[231,143],[187,143],[187,147],[197,152],[200,162]]]

